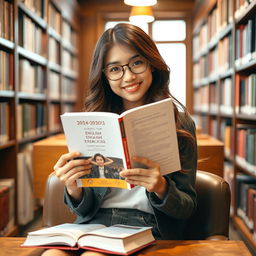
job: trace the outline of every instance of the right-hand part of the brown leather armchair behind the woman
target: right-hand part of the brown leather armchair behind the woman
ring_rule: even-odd
[[[197,171],[197,209],[187,222],[186,240],[228,239],[230,187],[220,176]]]

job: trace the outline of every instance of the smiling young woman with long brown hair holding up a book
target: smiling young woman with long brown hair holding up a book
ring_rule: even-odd
[[[140,28],[118,24],[100,37],[92,60],[85,111],[121,113],[171,97],[182,170],[162,176],[159,163],[133,156],[147,168],[120,172],[127,182],[137,185],[132,190],[78,188],[75,180],[90,173],[92,165],[88,160],[72,160],[79,152],[64,154],[54,170],[65,183],[65,202],[77,214],[76,223],[152,226],[156,239],[183,238],[186,219],[196,208],[197,145],[193,121],[169,92],[169,75],[156,45]]]

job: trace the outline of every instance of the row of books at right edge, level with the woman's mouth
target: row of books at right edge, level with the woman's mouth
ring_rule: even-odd
[[[256,114],[256,73],[236,76],[236,113]]]

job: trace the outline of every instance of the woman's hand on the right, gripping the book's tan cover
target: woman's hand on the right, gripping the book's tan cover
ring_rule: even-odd
[[[144,157],[133,157],[137,163],[141,163],[148,167],[148,169],[134,168],[127,169],[120,172],[120,176],[134,185],[143,186],[148,192],[154,192],[159,199],[163,199],[168,184],[166,179],[160,173],[160,165]]]

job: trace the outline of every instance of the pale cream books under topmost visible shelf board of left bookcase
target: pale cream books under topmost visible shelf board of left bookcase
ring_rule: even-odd
[[[19,45],[26,50],[46,56],[46,43],[43,30],[33,20],[20,12],[19,14]]]

